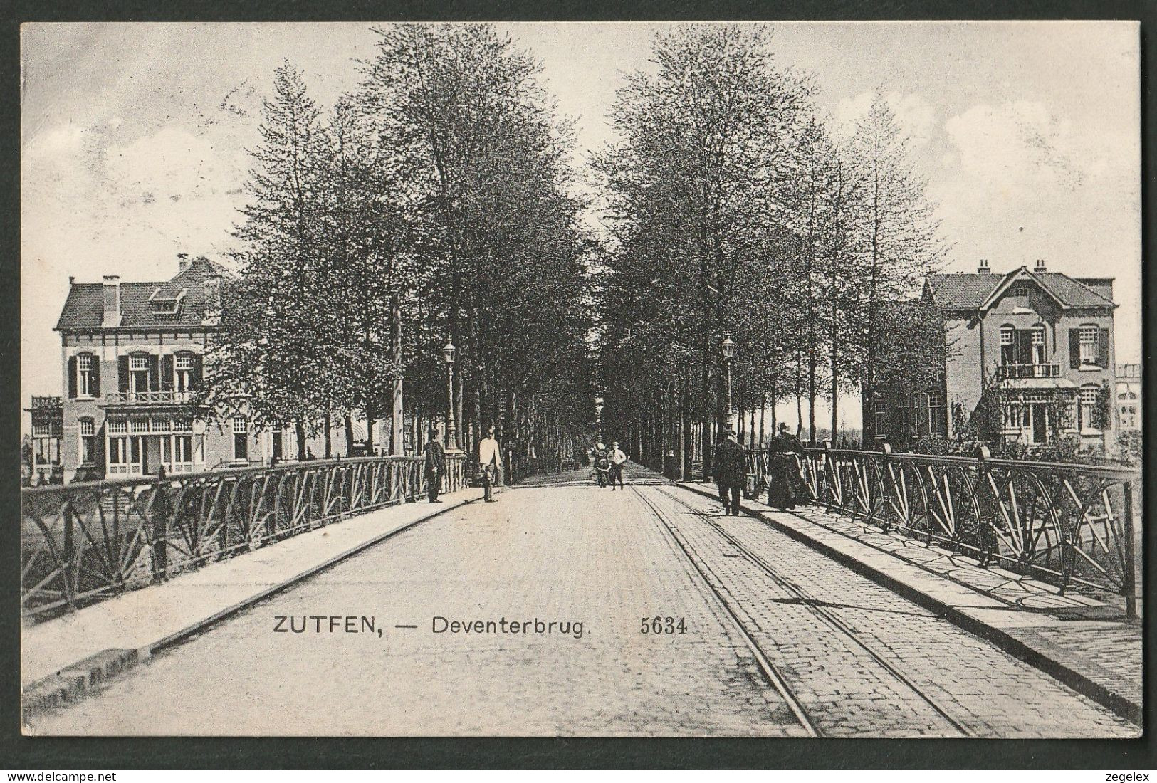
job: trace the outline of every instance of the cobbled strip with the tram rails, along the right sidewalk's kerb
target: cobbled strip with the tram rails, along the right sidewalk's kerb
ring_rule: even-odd
[[[1140,729],[922,607],[747,516],[676,487],[649,488],[678,535],[756,629],[827,736],[1127,737]],[[653,500],[653,502],[655,502]],[[778,575],[786,589],[687,505]],[[849,634],[899,672],[865,651]],[[927,695],[938,708],[921,697]],[[945,718],[950,716],[953,726]]]

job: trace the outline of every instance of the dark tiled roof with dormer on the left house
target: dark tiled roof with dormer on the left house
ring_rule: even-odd
[[[196,258],[171,280],[120,283],[120,328],[200,326],[205,320],[206,278],[229,272],[207,258]],[[180,296],[184,289],[185,295]],[[157,312],[154,300],[180,296],[176,313]],[[95,331],[104,322],[104,285],[73,283],[57,320],[57,331]]]

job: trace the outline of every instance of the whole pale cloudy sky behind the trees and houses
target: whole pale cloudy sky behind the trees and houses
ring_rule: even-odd
[[[575,121],[576,161],[613,135],[624,74],[670,24],[499,24]],[[779,67],[850,127],[883,89],[912,140],[946,271],[1046,259],[1114,276],[1117,361],[1141,359],[1141,111],[1133,22],[773,23]],[[21,94],[22,394],[60,394],[68,278],[165,280],[233,248],[260,101],[285,60],[324,109],[359,81],[362,23],[25,24]],[[858,406],[848,426],[858,426]],[[820,418],[820,421],[825,421]]]

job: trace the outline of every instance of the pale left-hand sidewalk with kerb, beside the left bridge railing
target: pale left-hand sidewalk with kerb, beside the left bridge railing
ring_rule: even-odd
[[[499,489],[496,492],[502,492]],[[101,681],[382,539],[481,500],[467,488],[390,505],[21,629],[24,710],[71,701]]]

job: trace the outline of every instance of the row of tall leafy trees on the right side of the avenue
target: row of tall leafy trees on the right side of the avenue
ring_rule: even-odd
[[[841,396],[870,399],[906,361],[880,348],[890,305],[919,293],[943,253],[883,93],[841,131],[810,81],[776,65],[769,29],[691,27],[656,36],[612,120],[617,141],[596,160],[611,232],[604,428],[641,423],[636,442],[653,451],[681,430],[709,464],[728,415],[729,335],[747,430],[765,408],[774,427],[775,404],[794,399],[815,441],[826,399],[835,433]]]

